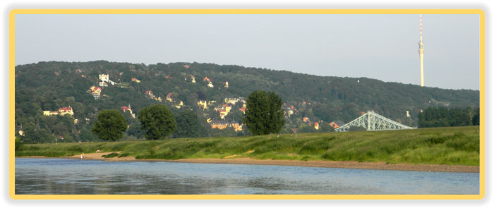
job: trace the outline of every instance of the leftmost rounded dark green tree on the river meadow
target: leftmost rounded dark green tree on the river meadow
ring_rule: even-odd
[[[127,123],[122,114],[117,110],[102,110],[97,116],[95,126],[91,132],[102,140],[120,140],[123,131],[127,129]]]

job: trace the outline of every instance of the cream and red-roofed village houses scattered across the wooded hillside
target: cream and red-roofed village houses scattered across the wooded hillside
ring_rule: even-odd
[[[183,68],[189,68],[190,65],[183,65]],[[76,69],[77,73],[82,73],[80,69]],[[119,73],[119,76],[122,76],[123,73]],[[155,75],[164,75],[164,74],[155,74]],[[81,78],[88,78],[88,75],[81,74]],[[172,79],[169,75],[164,75],[164,78],[166,79]],[[192,74],[187,74],[183,76],[183,82],[191,82],[195,85],[205,85],[205,87],[208,87],[212,90],[215,89],[228,89],[230,83],[225,80],[224,82],[215,82],[211,78],[208,78],[205,76],[204,78],[200,78],[200,82],[196,81],[195,75]],[[135,82],[136,84],[141,84],[143,82],[146,82],[146,80],[139,80],[138,78],[131,78],[131,80],[121,80],[120,78],[117,78],[116,81],[110,79],[109,74],[104,74],[100,73],[98,75],[98,80],[97,82],[94,82],[95,85],[92,85],[88,89],[88,93],[92,95],[92,97],[95,100],[101,100],[104,97],[111,97],[112,94],[107,94],[105,92],[105,88],[108,87],[109,85],[116,85],[121,88],[126,88],[129,85],[129,82]],[[217,86],[218,88],[215,88]],[[162,98],[161,96],[154,94],[152,90],[145,90],[144,95],[147,99],[152,99],[155,100],[156,102],[161,102],[163,104],[166,104],[167,106],[174,107],[176,109],[191,109],[191,106],[187,106],[184,104],[182,100],[180,100],[178,97],[174,97],[174,94],[172,92],[168,92],[167,94],[164,95]],[[303,105],[309,105],[310,103],[303,102]],[[199,109],[202,109],[203,112],[203,119],[207,123],[209,123],[210,128],[216,128],[219,130],[224,130],[226,128],[233,128],[235,132],[239,132],[243,130],[243,124],[241,123],[241,116],[245,114],[246,111],[246,99],[244,97],[224,97],[219,100],[207,100],[207,99],[199,99],[197,102],[197,106]],[[127,106],[115,106],[115,109],[121,109],[122,112],[128,111],[133,118],[135,118],[135,114],[137,112],[133,111],[131,109],[131,104],[128,104]],[[299,114],[298,109],[292,104],[287,104],[284,103],[282,106],[282,109],[284,111],[284,117],[288,120],[290,120],[291,117],[294,115]],[[229,115],[231,114],[236,114],[236,118],[230,118],[228,119]],[[74,113],[73,109],[71,106],[60,108],[59,111],[43,111],[44,116],[64,116],[64,115],[70,115],[72,118],[74,118]],[[314,130],[319,130],[320,129],[320,124],[325,122],[325,121],[313,121],[313,119],[304,116],[303,118],[299,119],[301,120],[301,123],[305,123],[307,127],[311,127]],[[86,123],[89,123],[90,118],[85,118]],[[78,119],[74,118],[74,123],[78,123]],[[343,123],[339,121],[332,121],[327,126],[330,126],[331,128],[337,128],[338,126],[341,126]],[[296,131],[296,128],[292,128],[293,131]],[[20,130],[20,133],[23,133],[23,130]]]

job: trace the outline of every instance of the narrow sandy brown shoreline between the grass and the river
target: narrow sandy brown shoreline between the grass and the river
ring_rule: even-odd
[[[103,158],[102,155],[112,152],[100,152],[85,154],[87,160],[102,161],[161,161],[161,162],[185,162],[199,164],[256,164],[276,166],[307,166],[337,169],[374,169],[390,171],[428,171],[428,172],[455,172],[455,173],[480,173],[480,166],[441,165],[441,164],[386,164],[386,162],[359,162],[359,161],[298,161],[298,160],[272,160],[252,159],[249,157],[229,159],[135,159],[135,157]],[[16,157],[16,158],[51,158],[51,159],[80,159],[80,154],[71,157]]]

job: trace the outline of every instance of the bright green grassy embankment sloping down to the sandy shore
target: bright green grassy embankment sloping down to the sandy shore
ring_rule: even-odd
[[[159,141],[23,145],[16,157],[65,157],[81,152],[121,152],[136,159],[236,158],[386,161],[390,164],[479,165],[478,126],[252,137],[179,138]]]

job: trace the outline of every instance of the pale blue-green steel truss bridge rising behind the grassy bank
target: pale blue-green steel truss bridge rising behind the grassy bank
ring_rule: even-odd
[[[396,121],[392,121],[390,118],[376,114],[374,111],[367,111],[367,114],[363,114],[354,121],[336,128],[335,131],[348,131],[351,126],[361,126],[366,130],[397,130],[411,128]]]

